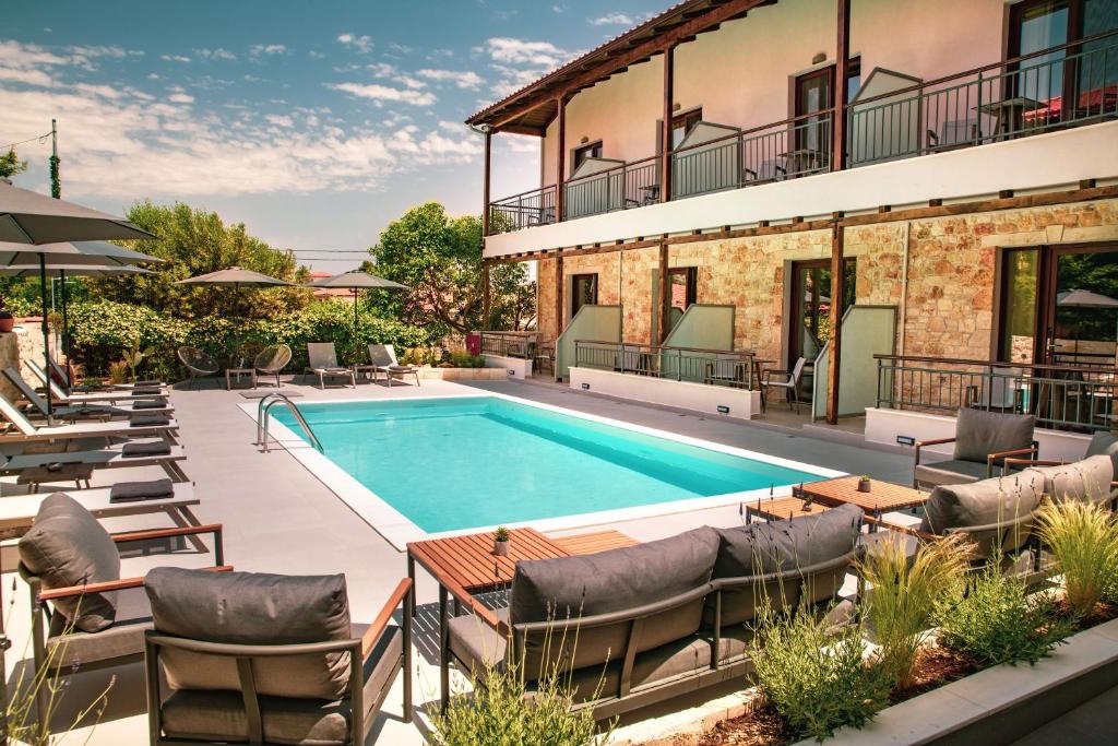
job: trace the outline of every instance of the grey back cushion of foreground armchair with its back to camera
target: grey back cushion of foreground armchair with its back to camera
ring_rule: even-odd
[[[344,575],[209,573],[158,567],[144,586],[155,629],[190,640],[281,645],[349,640]],[[231,658],[168,649],[161,654],[176,689],[239,691]],[[349,682],[349,654],[258,658],[253,661],[262,695],[337,699]]]

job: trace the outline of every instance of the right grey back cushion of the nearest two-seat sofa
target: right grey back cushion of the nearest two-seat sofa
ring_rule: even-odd
[[[718,529],[720,546],[714,579],[785,574],[765,584],[746,584],[722,591],[722,625],[741,624],[756,616],[768,598],[777,608],[795,606],[802,586],[809,588],[808,603],[833,598],[842,587],[849,563],[811,575],[802,570],[850,556],[858,546],[862,509],[841,506],[812,516]],[[707,599],[703,621],[714,623],[714,596]]]

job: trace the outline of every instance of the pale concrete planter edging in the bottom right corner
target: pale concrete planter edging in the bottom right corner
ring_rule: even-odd
[[[1035,667],[995,665],[882,710],[825,743],[1005,744],[1118,682],[1118,620],[1072,635]],[[803,740],[796,746],[809,746]]]

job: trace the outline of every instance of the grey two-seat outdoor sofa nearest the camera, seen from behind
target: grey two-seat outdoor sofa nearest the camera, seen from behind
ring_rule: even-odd
[[[515,664],[529,682],[556,670],[575,708],[603,719],[752,671],[749,623],[768,598],[777,611],[804,603],[836,624],[837,603],[860,551],[862,510],[741,528],[703,527],[594,555],[517,563],[511,602],[496,613],[456,588],[473,610],[447,624],[443,703],[452,661],[475,678]],[[836,605],[834,605],[836,604]]]

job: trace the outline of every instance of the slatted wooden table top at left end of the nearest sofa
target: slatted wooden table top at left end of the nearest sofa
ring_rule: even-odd
[[[514,528],[509,533],[506,557],[493,554],[494,531],[411,541],[408,555],[436,580],[447,580],[467,593],[511,583],[518,559],[551,559],[570,555],[536,529]]]

